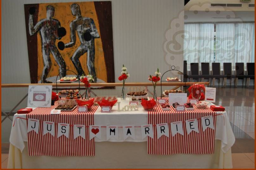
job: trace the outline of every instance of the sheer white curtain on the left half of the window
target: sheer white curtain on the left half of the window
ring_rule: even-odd
[[[214,24],[184,24],[184,60],[188,69],[190,63],[214,62]]]

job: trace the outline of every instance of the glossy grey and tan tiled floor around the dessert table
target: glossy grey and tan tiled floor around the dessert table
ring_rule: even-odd
[[[225,106],[236,141],[232,147],[233,168],[254,168],[254,87],[217,88],[216,105]],[[9,144],[2,143],[1,167],[6,168]]]

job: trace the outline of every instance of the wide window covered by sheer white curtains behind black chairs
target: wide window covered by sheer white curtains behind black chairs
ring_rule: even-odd
[[[254,23],[184,25],[184,60],[190,63],[254,62]],[[199,64],[201,65],[201,64]],[[210,64],[211,66],[211,64]]]

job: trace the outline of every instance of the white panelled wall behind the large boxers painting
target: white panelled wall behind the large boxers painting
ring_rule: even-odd
[[[51,0],[75,2],[80,0]],[[24,4],[48,3],[47,0],[2,0],[2,83],[30,83]],[[131,78],[127,82],[148,82],[149,74],[178,66],[183,71],[183,54],[169,64],[164,60],[163,44],[170,37],[170,21],[184,8],[183,0],[112,0],[115,80],[122,64]],[[182,17],[176,19],[183,29]],[[183,41],[178,38],[183,49]],[[27,94],[28,88],[2,88],[2,110],[7,112]],[[119,94],[120,88],[95,90],[98,95]],[[160,95],[160,90],[158,89]],[[27,99],[18,107],[26,107]],[[10,120],[6,120],[10,122]],[[7,132],[6,132],[7,133]],[[3,134],[3,128],[2,128]],[[8,142],[9,137],[5,137]],[[2,135],[3,140],[3,135]],[[4,142],[4,141],[3,141]]]

